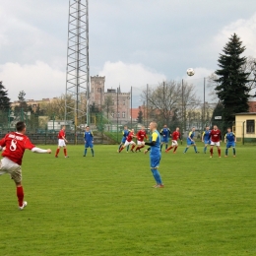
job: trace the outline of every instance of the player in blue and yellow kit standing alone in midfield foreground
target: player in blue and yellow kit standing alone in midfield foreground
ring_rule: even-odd
[[[148,150],[145,150],[145,154],[147,154],[149,151],[151,152],[150,154],[150,159],[151,159],[151,170],[153,173],[153,176],[156,180],[156,185],[154,185],[154,188],[163,188],[163,184],[161,182],[160,178],[160,172],[159,172],[159,167],[160,167],[160,133],[157,130],[158,125],[156,122],[151,122],[150,123],[150,130],[152,132],[150,142],[144,143],[145,145],[151,146]]]

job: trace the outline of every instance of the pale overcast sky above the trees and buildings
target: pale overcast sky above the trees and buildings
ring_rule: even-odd
[[[65,93],[68,14],[68,0],[0,0],[0,81],[12,100]],[[89,14],[90,75],[106,88],[187,79],[202,96],[233,32],[256,57],[255,0],[89,0]]]

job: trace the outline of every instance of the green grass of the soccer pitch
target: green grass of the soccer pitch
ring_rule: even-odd
[[[83,146],[69,146],[69,159],[27,152],[24,211],[13,181],[0,177],[0,254],[256,255],[254,147],[238,145],[227,159],[216,149],[213,159],[183,149],[162,154],[163,189],[152,188],[143,153],[117,154],[117,146],[95,146],[95,158],[90,151],[83,158]]]

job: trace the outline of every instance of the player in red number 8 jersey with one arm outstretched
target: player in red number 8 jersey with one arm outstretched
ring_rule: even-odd
[[[19,209],[23,210],[28,203],[24,201],[24,189],[22,185],[22,161],[25,150],[31,150],[33,153],[51,153],[51,150],[42,150],[36,148],[26,134],[26,124],[18,122],[16,124],[17,132],[10,132],[0,140],[0,151],[3,159],[0,161],[0,175],[9,173],[16,184],[16,193],[18,197]],[[4,194],[4,192],[2,192]]]

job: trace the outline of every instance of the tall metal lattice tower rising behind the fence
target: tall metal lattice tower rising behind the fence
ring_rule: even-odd
[[[69,1],[68,51],[66,71],[65,121],[74,120],[75,130],[89,124],[88,0]]]

